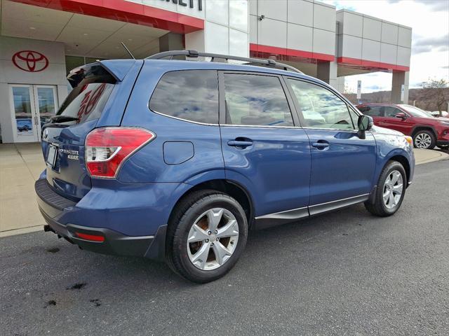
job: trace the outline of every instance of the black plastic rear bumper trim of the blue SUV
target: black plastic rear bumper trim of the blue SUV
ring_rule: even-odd
[[[110,255],[135,255],[154,260],[165,258],[166,225],[161,225],[155,235],[129,236],[110,228],[94,228],[72,223],[60,223],[57,218],[66,218],[74,211],[76,202],[67,200],[55,193],[46,180],[36,181],[39,210],[47,225],[45,231],[51,231],[80,248],[96,253]],[[78,233],[103,237],[103,241],[92,241],[78,237]]]

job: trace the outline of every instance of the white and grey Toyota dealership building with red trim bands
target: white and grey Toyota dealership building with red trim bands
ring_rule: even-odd
[[[410,27],[317,0],[0,0],[1,141],[40,141],[68,71],[100,59],[194,49],[274,58],[344,89],[344,77],[392,73],[408,102]]]

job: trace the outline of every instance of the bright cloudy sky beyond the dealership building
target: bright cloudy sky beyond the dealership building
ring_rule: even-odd
[[[449,0],[321,0],[337,10],[345,8],[412,27],[410,88],[429,78],[449,80]],[[391,90],[391,73],[347,76],[345,85],[356,92]]]

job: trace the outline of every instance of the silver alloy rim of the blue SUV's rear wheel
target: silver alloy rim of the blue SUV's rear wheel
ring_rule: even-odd
[[[239,223],[231,211],[213,208],[196,218],[187,237],[187,255],[192,264],[208,271],[222,266],[239,241]]]

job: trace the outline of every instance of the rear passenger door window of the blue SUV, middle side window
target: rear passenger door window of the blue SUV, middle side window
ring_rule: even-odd
[[[293,126],[279,78],[225,73],[228,125]]]

